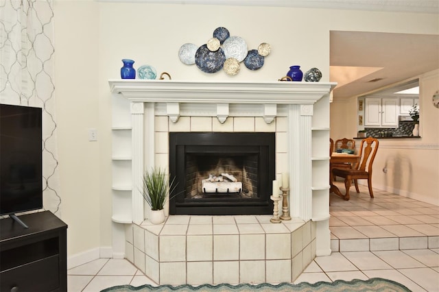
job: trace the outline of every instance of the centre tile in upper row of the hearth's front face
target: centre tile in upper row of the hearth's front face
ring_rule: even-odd
[[[214,235],[213,260],[239,260],[239,235]]]

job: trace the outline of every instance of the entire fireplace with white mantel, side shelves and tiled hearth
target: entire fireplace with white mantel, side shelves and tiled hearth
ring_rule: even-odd
[[[203,267],[205,271],[212,269],[208,273],[213,275],[213,283],[218,279],[224,280],[224,275],[218,276],[215,267],[236,265],[239,272],[239,269],[254,264],[252,260],[256,259],[244,260],[246,252],[239,249],[236,256],[228,258],[230,263],[221,257],[215,260],[215,254],[219,253],[215,251],[215,246],[220,248],[220,245],[214,244],[215,241],[228,242],[223,236],[231,236],[233,242],[237,241],[237,247],[241,245],[241,240],[248,240],[252,236],[258,237],[261,243],[262,254],[257,258],[260,277],[230,278],[230,282],[272,279],[268,277],[276,274],[279,265],[289,271],[289,276],[272,280],[292,280],[310,263],[313,256],[331,253],[327,150],[329,93],[335,84],[175,80],[110,80],[109,84],[113,93],[112,221],[115,257],[128,258],[160,284],[177,281],[167,275],[167,269],[180,267],[182,278],[177,282],[195,284],[191,280],[192,267]],[[222,143],[207,143],[191,145],[188,151],[179,149],[176,154],[172,154],[174,150],[170,148],[175,147],[172,141],[178,140],[175,138],[178,134],[194,134],[195,138],[187,138],[189,141],[232,141],[232,147],[227,150],[230,151],[228,154],[222,148]],[[212,138],[210,135],[213,134],[219,138]],[[263,134],[268,141],[264,143],[270,145],[267,147],[270,149],[257,151],[256,145],[246,145],[251,140],[249,138],[233,142],[237,141],[235,134]],[[204,137],[203,140],[203,135],[209,138]],[[265,147],[264,143],[259,148]],[[243,144],[246,145],[246,151],[240,146]],[[208,148],[200,149],[206,146]],[[178,151],[183,154],[179,155]],[[185,165],[185,171],[180,173],[176,170],[179,162]],[[259,170],[254,171],[254,165]],[[138,187],[141,186],[143,171],[154,166],[169,167],[170,175],[177,175],[181,191],[185,193],[184,197],[175,197],[175,205],[167,206],[169,217],[165,226],[147,224],[148,210]],[[272,180],[285,172],[289,173],[288,201],[293,220],[291,223],[273,224],[268,215],[272,214],[272,202],[267,197],[272,193]],[[229,188],[241,187],[241,191],[232,192],[227,187],[224,191],[224,184],[215,185],[214,188],[212,184],[202,184],[211,174],[212,177],[224,176],[215,180],[223,179],[226,182],[229,182],[227,175],[231,175],[238,184],[230,180]],[[215,180],[209,182],[215,184]],[[208,191],[203,192],[203,188],[208,188]],[[257,210],[248,210],[248,206],[239,206],[234,210],[229,206],[227,212],[222,208],[215,210],[215,206],[224,203],[224,198],[229,201],[227,204],[232,202],[230,206],[237,202],[259,206]],[[187,206],[180,204],[185,202]],[[206,208],[213,211],[207,212],[206,208],[197,206],[200,202],[211,204]],[[182,209],[178,209],[178,204]],[[188,211],[192,206],[195,208]],[[202,220],[206,214],[212,217],[213,222],[233,221],[237,224],[236,232],[215,234],[215,230],[224,229],[215,228],[213,224],[213,231],[208,228],[202,234],[191,233],[191,222]],[[197,219],[198,216],[200,219]],[[224,219],[218,219],[218,216]],[[239,229],[239,222],[246,221],[247,216],[256,216],[254,224],[259,226],[258,231],[250,232],[249,226],[245,226],[244,231]],[[167,227],[170,222],[171,225]],[[301,227],[294,225],[298,222],[302,222],[299,225]],[[293,227],[289,224],[293,224]],[[213,257],[192,262],[189,250],[198,250],[193,245],[196,241],[193,241],[195,239],[192,236],[195,235],[204,236],[202,238],[206,245],[203,248],[213,246]],[[302,241],[303,237],[307,240]],[[272,240],[278,243],[279,238],[282,238],[280,250],[269,244]],[[174,259],[161,254],[165,250],[172,250],[171,246],[177,241],[181,243],[178,247],[182,249],[181,254]],[[273,257],[273,248],[282,255]],[[293,250],[298,252],[293,253]]]

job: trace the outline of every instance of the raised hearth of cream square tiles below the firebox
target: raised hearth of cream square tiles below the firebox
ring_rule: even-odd
[[[316,257],[316,223],[176,215],[126,228],[126,258],[157,284],[292,282]]]

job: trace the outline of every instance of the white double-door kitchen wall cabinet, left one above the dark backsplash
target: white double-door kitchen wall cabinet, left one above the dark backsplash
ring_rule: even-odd
[[[396,98],[366,98],[365,121],[368,127],[398,127],[399,105]]]

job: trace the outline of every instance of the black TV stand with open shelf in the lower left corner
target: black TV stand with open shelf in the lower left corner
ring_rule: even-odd
[[[67,291],[67,225],[49,211],[0,220],[0,291]]]

